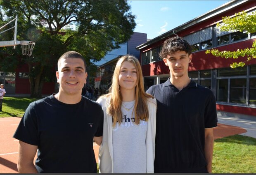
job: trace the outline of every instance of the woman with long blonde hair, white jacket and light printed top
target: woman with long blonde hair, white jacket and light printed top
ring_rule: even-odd
[[[146,94],[140,62],[125,55],[116,63],[104,111],[100,173],[154,173],[156,99]]]

